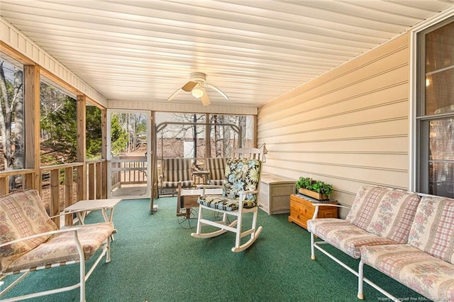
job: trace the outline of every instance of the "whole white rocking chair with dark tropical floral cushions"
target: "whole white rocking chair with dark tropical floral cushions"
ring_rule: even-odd
[[[258,189],[260,185],[262,149],[248,148],[235,150],[238,154],[250,154],[253,158],[233,158],[227,161],[226,172],[223,181],[222,195],[202,194],[197,201],[199,203],[199,218],[197,220],[196,233],[192,237],[208,238],[215,237],[230,231],[236,233],[235,246],[232,252],[241,252],[255,242],[262,231],[257,228],[258,217]],[[255,158],[254,158],[255,157]],[[203,188],[209,186],[202,186]],[[203,218],[202,211],[209,210],[223,214],[221,221],[212,221]],[[253,214],[252,226],[242,232],[243,215]],[[227,224],[227,215],[236,216],[233,223]],[[201,233],[203,225],[211,225],[219,230],[211,233]],[[241,238],[250,235],[247,242],[241,244]]]

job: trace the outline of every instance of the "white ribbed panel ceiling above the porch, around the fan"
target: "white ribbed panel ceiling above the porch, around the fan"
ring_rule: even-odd
[[[0,0],[0,15],[108,100],[167,102],[191,72],[257,108],[454,0]],[[176,104],[200,104],[180,92]]]

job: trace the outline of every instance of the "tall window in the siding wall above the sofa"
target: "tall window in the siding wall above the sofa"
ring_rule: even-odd
[[[454,197],[454,18],[418,35],[416,188]]]

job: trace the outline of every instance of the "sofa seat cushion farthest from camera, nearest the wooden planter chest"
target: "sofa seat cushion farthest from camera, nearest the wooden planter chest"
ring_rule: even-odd
[[[360,258],[362,245],[397,244],[393,240],[368,233],[348,221],[337,218],[307,220],[307,230],[355,259]]]

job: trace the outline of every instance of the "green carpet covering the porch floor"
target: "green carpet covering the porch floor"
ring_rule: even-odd
[[[357,278],[321,252],[312,261],[309,233],[289,223],[288,214],[260,211],[260,237],[245,252],[233,253],[233,233],[191,237],[194,229],[177,222],[176,198],[155,203],[153,216],[147,199],[116,206],[112,261],[101,262],[90,276],[87,301],[359,301]],[[100,219],[94,212],[86,221]],[[329,250],[357,270],[358,260]],[[406,301],[426,300],[370,267],[365,276]],[[74,284],[78,277],[77,265],[34,272],[6,297]],[[364,293],[364,301],[389,301],[367,284]],[[79,289],[28,301],[79,301]]]

